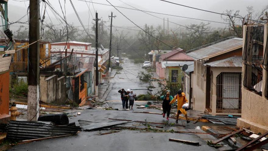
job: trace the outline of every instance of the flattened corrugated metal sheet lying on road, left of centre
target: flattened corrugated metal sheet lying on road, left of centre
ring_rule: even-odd
[[[91,131],[91,130],[97,130],[100,128],[107,128],[107,127],[112,127],[112,126],[116,126],[116,125],[122,125],[122,124],[127,124],[127,123],[131,123],[133,121],[130,122],[126,122],[126,121],[120,121],[120,122],[104,122],[104,123],[96,123],[96,124],[90,124],[90,125],[86,125],[83,126],[83,130],[85,131]]]

